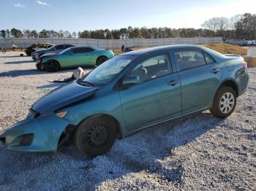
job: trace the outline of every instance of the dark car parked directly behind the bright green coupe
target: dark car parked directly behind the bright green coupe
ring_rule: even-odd
[[[75,47],[74,45],[72,44],[56,44],[54,45],[53,47],[50,47],[46,50],[37,50],[35,52],[32,52],[31,53],[31,56],[32,56],[32,59],[34,61],[36,61],[40,56],[44,55],[44,54],[58,54],[59,52],[61,52],[62,50],[65,50],[69,47]]]

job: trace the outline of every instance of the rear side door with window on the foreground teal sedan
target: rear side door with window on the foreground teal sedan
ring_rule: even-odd
[[[199,49],[174,50],[173,57],[180,70],[182,113],[207,106],[222,77],[219,63]]]

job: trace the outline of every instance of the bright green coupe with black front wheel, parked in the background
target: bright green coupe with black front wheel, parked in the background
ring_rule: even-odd
[[[59,71],[83,66],[99,66],[113,58],[112,50],[103,50],[99,47],[70,47],[59,54],[44,54],[37,60],[38,70]]]

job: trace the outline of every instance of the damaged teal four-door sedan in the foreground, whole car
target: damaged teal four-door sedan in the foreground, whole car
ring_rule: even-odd
[[[72,139],[87,157],[108,152],[116,138],[210,109],[233,113],[246,91],[244,59],[197,45],[127,52],[82,79],[40,98],[26,120],[0,133],[9,150],[56,151]]]

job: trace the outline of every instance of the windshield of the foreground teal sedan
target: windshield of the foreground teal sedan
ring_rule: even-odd
[[[135,55],[118,55],[99,65],[81,81],[93,85],[106,85],[134,59]]]

